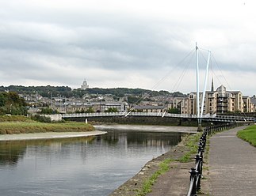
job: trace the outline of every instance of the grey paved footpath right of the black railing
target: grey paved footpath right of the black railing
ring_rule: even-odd
[[[243,128],[236,127],[210,138],[210,195],[256,195],[256,148],[236,137]]]

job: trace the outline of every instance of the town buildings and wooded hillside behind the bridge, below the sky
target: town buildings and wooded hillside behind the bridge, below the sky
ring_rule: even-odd
[[[197,114],[197,93],[151,91],[147,89],[89,88],[86,80],[81,88],[53,86],[0,87],[0,92],[17,92],[25,100],[30,113],[85,113],[85,112],[163,112]],[[200,102],[203,93],[200,93]],[[2,114],[17,114],[14,104],[8,102]],[[50,109],[50,110],[49,110]],[[255,112],[256,97],[243,96],[241,91],[228,91],[224,85],[205,93],[204,114]]]

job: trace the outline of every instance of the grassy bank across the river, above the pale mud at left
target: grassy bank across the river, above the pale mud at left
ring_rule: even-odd
[[[86,123],[39,123],[25,116],[1,116],[0,134],[28,134],[44,132],[92,131],[94,126]]]

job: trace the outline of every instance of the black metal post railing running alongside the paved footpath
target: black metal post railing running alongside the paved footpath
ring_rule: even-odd
[[[191,168],[189,171],[190,173],[190,184],[189,184],[189,190],[187,196],[196,196],[197,191],[201,189],[201,177],[202,177],[202,169],[203,169],[203,163],[204,163],[204,149],[206,145],[206,139],[207,136],[210,134],[214,134],[221,130],[230,129],[232,127],[236,126],[236,123],[227,123],[222,125],[216,125],[216,126],[207,126],[204,128],[203,134],[201,135],[201,138],[198,143],[198,151],[197,155],[195,157],[196,159],[196,166],[195,168]]]

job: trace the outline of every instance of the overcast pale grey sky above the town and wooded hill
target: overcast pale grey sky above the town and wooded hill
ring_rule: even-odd
[[[0,85],[79,88],[86,78],[187,93],[197,42],[201,90],[210,50],[215,89],[253,96],[255,10],[253,0],[0,0]]]

